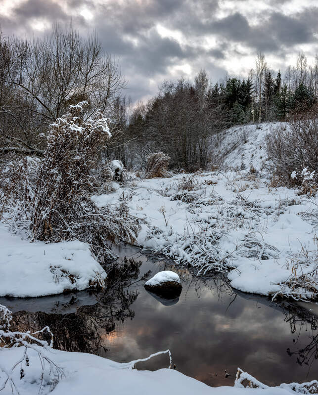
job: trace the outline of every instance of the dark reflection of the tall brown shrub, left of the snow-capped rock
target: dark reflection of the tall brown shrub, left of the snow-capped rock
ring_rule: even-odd
[[[137,293],[129,292],[127,287],[137,281],[140,265],[141,262],[126,258],[122,264],[113,265],[108,271],[106,288],[96,294],[97,303],[93,306],[78,307],[69,314],[19,311],[13,314],[12,327],[34,332],[47,325],[54,334],[55,349],[99,353],[103,349],[102,335],[113,331],[116,321],[135,315],[130,306]],[[76,294],[70,304],[75,301]]]

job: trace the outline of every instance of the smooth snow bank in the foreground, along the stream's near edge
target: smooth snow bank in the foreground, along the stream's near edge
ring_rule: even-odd
[[[11,367],[23,353],[22,348],[5,349],[0,352],[0,366]],[[41,361],[34,350],[29,350],[30,366],[23,366],[24,377],[20,380],[20,369],[13,371],[12,378],[21,395],[38,394]],[[291,390],[278,387],[244,389],[236,387],[209,387],[174,369],[159,369],[151,372],[131,368],[130,363],[117,363],[97,355],[52,350],[49,353],[59,367],[64,368],[65,377],[59,381],[52,395],[287,395]],[[168,364],[168,358],[167,358]],[[48,394],[47,372],[44,375],[43,393]],[[3,395],[12,394],[7,385]]]

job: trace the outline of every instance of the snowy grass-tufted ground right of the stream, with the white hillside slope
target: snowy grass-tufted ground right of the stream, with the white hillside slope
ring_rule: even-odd
[[[176,263],[200,273],[229,271],[231,285],[244,292],[311,299],[293,280],[312,280],[317,268],[317,198],[272,187],[264,172],[250,171],[251,165],[264,167],[263,140],[272,127],[229,131],[224,149],[234,133],[240,141],[226,158],[233,170],[135,179],[92,199],[103,206],[124,197],[131,213],[144,220],[137,244]],[[246,169],[237,170],[242,161]]]

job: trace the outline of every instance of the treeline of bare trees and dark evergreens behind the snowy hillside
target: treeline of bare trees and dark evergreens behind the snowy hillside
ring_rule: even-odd
[[[282,76],[259,54],[247,79],[228,77],[211,84],[204,70],[194,82],[165,82],[157,95],[139,103],[127,117],[127,102],[118,100],[117,122],[123,139],[135,143],[118,148],[117,156],[130,167],[152,152],[171,157],[172,168],[195,171],[213,162],[219,132],[241,124],[288,121],[311,109],[318,98],[318,56],[308,65],[303,53]],[[129,122],[128,122],[129,119]],[[123,142],[124,142],[123,140]]]

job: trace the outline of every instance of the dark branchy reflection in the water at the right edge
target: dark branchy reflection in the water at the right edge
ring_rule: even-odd
[[[285,321],[289,323],[291,333],[297,334],[297,338],[294,339],[295,346],[298,342],[301,331],[307,331],[307,324],[310,324],[313,332],[317,331],[318,317],[316,315],[311,314],[304,308],[293,304],[284,304],[282,307],[285,314]],[[313,334],[312,336],[308,336],[308,338],[309,344],[305,347],[295,351],[291,351],[290,348],[287,349],[289,356],[296,356],[296,362],[299,365],[305,364],[311,366],[314,360],[318,359],[318,334]]]

